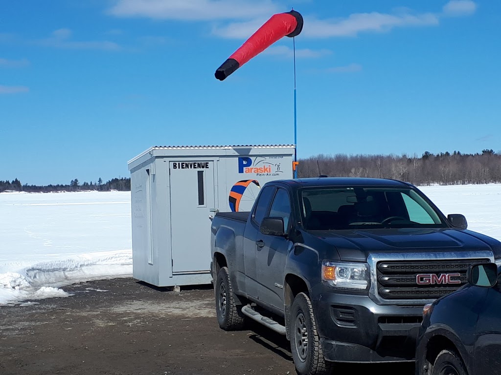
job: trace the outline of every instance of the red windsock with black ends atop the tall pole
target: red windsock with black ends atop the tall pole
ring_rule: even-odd
[[[245,62],[263,52],[270,45],[284,36],[299,35],[303,29],[303,16],[296,10],[274,14],[250,36],[229,58],[219,66],[215,77],[223,80]]]

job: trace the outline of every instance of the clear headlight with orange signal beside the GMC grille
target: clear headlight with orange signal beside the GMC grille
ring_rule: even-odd
[[[322,262],[322,280],[331,286],[366,289],[368,269],[364,263],[345,263],[324,260]]]

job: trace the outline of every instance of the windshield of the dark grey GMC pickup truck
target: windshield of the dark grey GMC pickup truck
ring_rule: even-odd
[[[307,230],[447,226],[410,188],[322,187],[300,194]]]

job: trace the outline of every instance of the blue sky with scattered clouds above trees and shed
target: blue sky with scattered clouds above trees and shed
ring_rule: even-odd
[[[2,1],[0,179],[129,176],[152,145],[293,143],[291,38],[214,78],[292,7],[299,157],[501,149],[499,1]]]

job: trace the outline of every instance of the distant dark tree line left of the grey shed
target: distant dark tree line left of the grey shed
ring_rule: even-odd
[[[78,178],[72,179],[69,184],[57,184],[57,185],[28,185],[21,184],[19,179],[14,179],[12,181],[1,181],[0,180],[0,192],[2,191],[26,191],[26,192],[51,192],[51,191],[130,191],[130,178],[112,178],[108,182],[103,182],[102,178],[99,177],[97,181],[83,182],[80,183]]]

